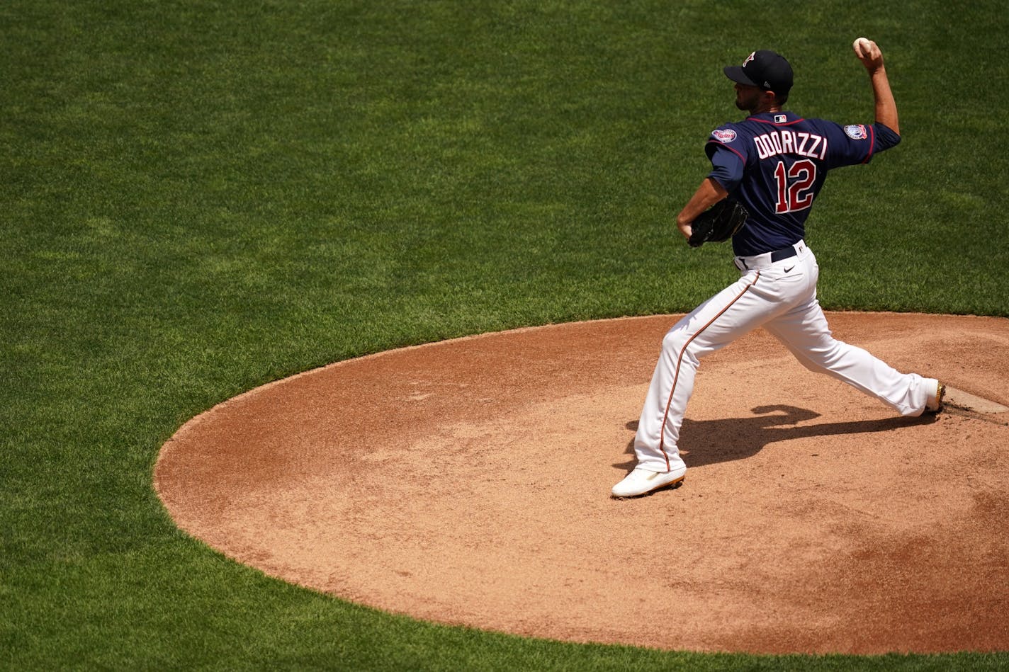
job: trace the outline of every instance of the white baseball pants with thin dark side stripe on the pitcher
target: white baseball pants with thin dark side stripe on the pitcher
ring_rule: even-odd
[[[635,452],[652,471],[684,467],[677,449],[683,414],[700,358],[764,327],[809,370],[828,373],[876,397],[904,416],[918,416],[928,400],[926,378],[901,373],[862,348],[833,338],[816,300],[819,266],[804,242],[796,254],[736,257],[740,279],[677,322],[662,340],[641,413]],[[931,381],[934,386],[935,381]]]

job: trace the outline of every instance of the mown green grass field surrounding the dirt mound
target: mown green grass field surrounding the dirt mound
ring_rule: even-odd
[[[226,560],[151,486],[188,419],[297,371],[689,310],[735,272],[672,228],[739,118],[721,66],[776,48],[791,109],[871,121],[863,34],[904,140],[828,180],[822,303],[1009,316],[993,0],[2,3],[0,667],[1009,668],[432,626]]]

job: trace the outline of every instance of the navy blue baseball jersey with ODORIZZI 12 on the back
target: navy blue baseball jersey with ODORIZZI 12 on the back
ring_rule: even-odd
[[[750,211],[733,236],[736,254],[781,249],[805,237],[805,222],[830,169],[867,163],[900,136],[883,124],[840,124],[764,112],[711,131],[710,176]]]

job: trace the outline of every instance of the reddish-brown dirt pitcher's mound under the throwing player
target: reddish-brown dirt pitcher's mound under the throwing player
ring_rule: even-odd
[[[833,314],[901,370],[1009,405],[1009,321]],[[758,331],[706,359],[684,484],[609,498],[673,316],[340,362],[169,441],[187,532],[431,621],[701,651],[1009,649],[1009,414],[896,418]]]

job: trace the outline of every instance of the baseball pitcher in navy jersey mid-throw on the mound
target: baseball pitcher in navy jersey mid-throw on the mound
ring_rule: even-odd
[[[834,339],[816,300],[819,267],[805,221],[827,172],[868,163],[900,142],[897,105],[872,40],[853,44],[876,104],[874,124],[842,125],[786,111],[792,68],[771,50],[724,69],[736,83],[743,121],[714,129],[705,150],[711,172],[676,218],[692,246],[732,238],[740,279],[698,306],[666,334],[642,410],[638,465],[612,488],[632,497],[675,486],[686,474],[677,441],[700,358],[764,327],[808,369],[827,373],[904,416],[938,412],[944,387],[902,373]]]

